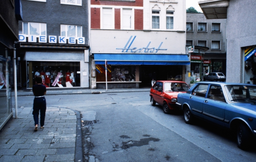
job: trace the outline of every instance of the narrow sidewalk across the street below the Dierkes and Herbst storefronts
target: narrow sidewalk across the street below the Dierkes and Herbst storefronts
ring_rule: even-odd
[[[121,92],[150,92],[150,88],[116,88],[116,89],[76,89],[76,90],[58,90],[58,89],[46,89],[46,95],[63,95],[63,94],[93,94],[93,93],[121,93]],[[14,91],[12,91],[12,97],[14,97]],[[18,90],[17,96],[33,96],[31,91]]]

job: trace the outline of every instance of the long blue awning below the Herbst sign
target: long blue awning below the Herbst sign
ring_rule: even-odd
[[[190,65],[187,54],[94,54],[95,64],[110,65]]]

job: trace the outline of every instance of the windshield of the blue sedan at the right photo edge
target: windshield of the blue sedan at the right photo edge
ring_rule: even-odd
[[[225,85],[227,98],[230,102],[256,103],[256,86]]]

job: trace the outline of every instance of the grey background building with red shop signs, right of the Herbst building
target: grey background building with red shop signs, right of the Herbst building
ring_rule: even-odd
[[[200,71],[201,79],[209,72],[226,75],[226,24],[226,19],[207,19],[203,13],[186,14],[186,46],[206,47],[204,52],[191,53],[191,76]]]

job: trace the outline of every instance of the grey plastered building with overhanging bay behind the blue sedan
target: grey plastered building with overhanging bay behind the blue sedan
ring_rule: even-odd
[[[255,0],[200,0],[207,19],[227,18],[227,82],[256,84]]]

